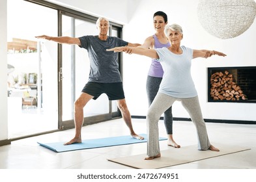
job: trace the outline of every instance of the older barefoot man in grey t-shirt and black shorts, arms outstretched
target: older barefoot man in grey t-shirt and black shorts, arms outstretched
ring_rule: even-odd
[[[132,127],[132,119],[127,108],[124,98],[124,90],[122,88],[122,80],[119,72],[119,64],[117,62],[117,54],[109,53],[106,49],[117,46],[137,47],[140,44],[131,44],[120,38],[107,36],[109,30],[109,21],[106,18],[98,18],[96,22],[98,29],[97,36],[81,36],[72,38],[68,36],[52,37],[52,36],[36,36],[36,38],[44,38],[52,40],[60,44],[76,44],[79,47],[87,49],[90,59],[90,75],[89,82],[83,88],[80,96],[74,103],[74,122],[76,133],[74,138],[65,145],[73,143],[81,143],[81,127],[83,126],[83,107],[91,99],[97,99],[101,94],[107,94],[109,100],[117,100],[117,107],[121,110],[122,118],[130,129],[132,137],[139,140],[144,139],[137,135]]]

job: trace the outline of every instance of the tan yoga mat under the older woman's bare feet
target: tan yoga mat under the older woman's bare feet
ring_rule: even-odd
[[[214,144],[220,151],[199,151],[197,145],[183,146],[182,148],[169,148],[161,151],[159,158],[147,161],[144,160],[147,157],[146,154],[132,155],[128,157],[119,157],[115,159],[107,159],[111,162],[117,162],[125,166],[139,169],[157,169],[165,168],[168,166],[175,166],[178,164],[186,164],[189,162],[200,161],[212,157],[218,157],[221,155],[227,155],[240,151],[246,151],[249,148],[240,146],[230,146],[226,144]]]

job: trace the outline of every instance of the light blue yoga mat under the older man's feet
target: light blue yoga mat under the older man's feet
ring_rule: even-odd
[[[40,146],[44,146],[48,149],[51,149],[55,152],[63,152],[63,151],[73,151],[78,149],[91,149],[91,148],[104,148],[109,146],[121,146],[121,145],[127,145],[127,144],[137,144],[137,143],[143,143],[147,142],[147,135],[140,134],[140,136],[143,136],[144,140],[137,140],[135,138],[132,138],[132,136],[115,136],[115,137],[109,137],[109,138],[97,138],[97,139],[91,139],[91,140],[82,140],[81,143],[71,144],[64,146],[64,142],[54,142],[54,143],[41,143]],[[167,140],[167,138],[160,137],[159,140]]]

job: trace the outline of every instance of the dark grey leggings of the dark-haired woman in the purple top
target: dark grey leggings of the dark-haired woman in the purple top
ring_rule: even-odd
[[[156,97],[156,94],[158,93],[161,81],[161,77],[151,77],[149,75],[147,77],[146,90],[149,101],[149,107],[154,98]],[[173,114],[171,112],[171,107],[169,107],[169,109],[165,110],[164,112],[164,125],[167,135],[173,135]]]

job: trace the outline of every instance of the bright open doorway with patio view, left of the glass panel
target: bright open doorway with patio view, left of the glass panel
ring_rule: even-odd
[[[57,129],[57,10],[23,0],[7,1],[8,137]],[[47,21],[46,21],[47,19]]]

